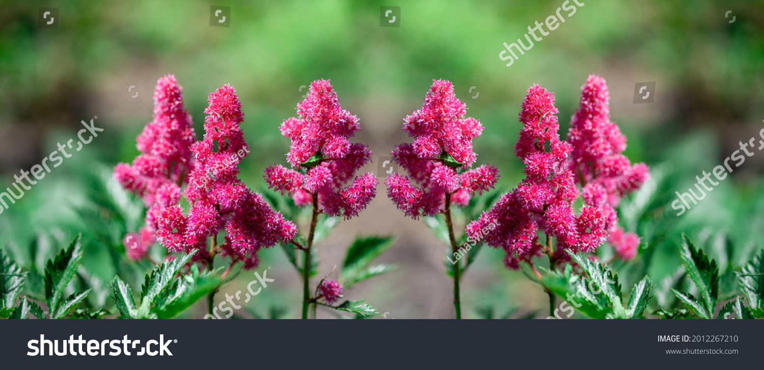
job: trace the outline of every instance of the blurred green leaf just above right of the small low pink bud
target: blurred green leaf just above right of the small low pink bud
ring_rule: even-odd
[[[342,263],[340,280],[345,285],[345,288],[347,289],[357,282],[395,269],[393,265],[378,265],[367,269],[367,265],[377,256],[384,253],[385,250],[389,249],[390,246],[393,246],[393,243],[395,243],[395,236],[391,235],[357,237],[350,248],[348,248],[345,262]]]

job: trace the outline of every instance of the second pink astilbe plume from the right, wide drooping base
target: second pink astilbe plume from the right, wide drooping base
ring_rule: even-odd
[[[520,111],[523,129],[515,146],[526,165],[526,179],[466,228],[468,236],[505,249],[510,269],[542,253],[539,230],[548,243],[550,237],[556,238],[558,248],[551,256],[555,260],[566,259],[564,249],[591,253],[604,242],[606,219],[601,208],[584,204],[578,214],[573,210],[578,188],[568,166],[572,146],[558,137],[557,113],[554,94],[539,85],[528,89]]]

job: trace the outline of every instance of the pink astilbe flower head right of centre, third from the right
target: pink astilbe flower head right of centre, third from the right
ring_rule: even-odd
[[[480,121],[464,117],[465,103],[456,98],[450,81],[433,81],[422,109],[406,116],[403,130],[413,143],[395,147],[393,160],[411,176],[387,177],[387,196],[406,216],[434,216],[445,197],[466,205],[475,193],[494,188],[499,179],[494,166],[468,169],[477,160],[472,139],[480,136]],[[459,170],[459,172],[458,172]]]

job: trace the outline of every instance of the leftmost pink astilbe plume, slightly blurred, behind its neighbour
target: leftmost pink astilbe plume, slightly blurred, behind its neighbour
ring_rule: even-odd
[[[141,152],[132,162],[118,163],[114,178],[123,188],[140,196],[149,211],[146,225],[139,230],[140,248],[127,246],[130,259],[141,259],[154,243],[156,215],[161,208],[176,204],[180,186],[194,163],[190,146],[196,140],[191,116],[183,106],[183,88],[173,75],[163,76],[154,89],[154,120],[138,135]]]

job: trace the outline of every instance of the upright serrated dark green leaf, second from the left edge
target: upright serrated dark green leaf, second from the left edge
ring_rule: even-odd
[[[60,312],[63,290],[69,285],[79,267],[79,260],[83,258],[82,239],[83,235],[78,233],[72,243],[61,249],[54,259],[49,259],[45,266],[45,301],[51,318],[56,318]],[[71,306],[66,311],[69,308]]]

